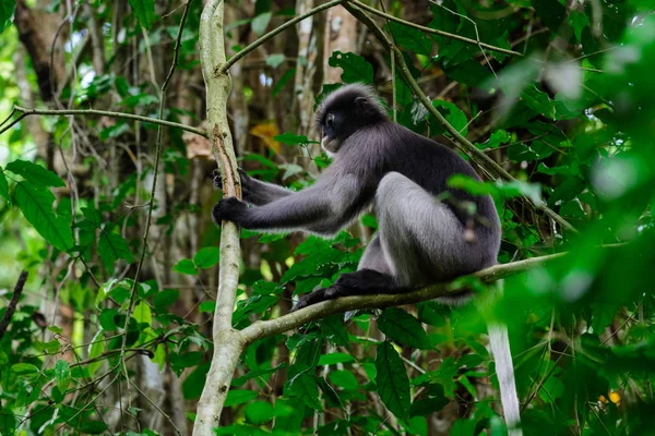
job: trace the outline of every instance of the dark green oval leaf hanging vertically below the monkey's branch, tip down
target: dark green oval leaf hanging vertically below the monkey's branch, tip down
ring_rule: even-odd
[[[409,380],[405,365],[391,342],[378,346],[376,384],[380,399],[398,420],[409,420]]]

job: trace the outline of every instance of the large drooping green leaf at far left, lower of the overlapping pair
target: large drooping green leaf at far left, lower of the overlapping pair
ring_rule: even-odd
[[[62,252],[73,246],[71,221],[55,216],[55,195],[49,190],[32,182],[19,182],[14,189],[14,199],[25,219],[52,246]]]

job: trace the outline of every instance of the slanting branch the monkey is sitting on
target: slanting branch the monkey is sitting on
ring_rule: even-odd
[[[524,261],[513,262],[510,264],[495,265],[481,271],[472,274],[483,282],[491,282],[500,280],[504,277],[513,276],[519,272],[526,271],[535,266],[544,265],[548,262],[558,259],[568,253],[557,253],[547,256],[533,257]],[[465,278],[464,277],[464,278]],[[279,335],[288,330],[298,328],[309,322],[324,318],[330,315],[346,311],[355,311],[360,308],[382,308],[389,306],[400,306],[403,304],[419,303],[421,301],[434,300],[440,296],[461,291],[467,281],[462,277],[429,286],[413,292],[400,294],[379,294],[379,295],[354,295],[344,296],[336,300],[324,301],[318,304],[312,304],[297,312],[283,315],[278,318],[269,320],[259,320],[241,330],[241,340],[248,344],[257,339]]]

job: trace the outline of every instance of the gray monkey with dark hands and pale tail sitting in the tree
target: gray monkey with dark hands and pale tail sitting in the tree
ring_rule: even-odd
[[[217,223],[334,234],[374,205],[379,232],[358,270],[303,295],[295,310],[344,295],[406,292],[496,264],[501,232],[491,197],[448,186],[453,174],[479,180],[456,153],[389,121],[378,96],[365,85],[329,95],[315,120],[321,144],[334,161],[312,186],[293,192],[241,174],[245,199],[255,207],[226,198],[212,210]],[[504,365],[498,374],[508,423],[519,428],[507,330],[492,326],[489,334],[498,365]],[[515,428],[512,435],[520,435]]]

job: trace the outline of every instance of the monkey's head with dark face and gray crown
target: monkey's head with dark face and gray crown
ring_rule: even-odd
[[[353,133],[388,118],[376,92],[357,83],[327,95],[317,109],[315,120],[317,130],[322,132],[321,147],[334,156]]]

